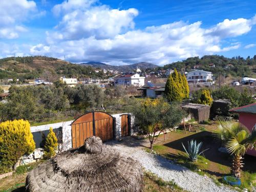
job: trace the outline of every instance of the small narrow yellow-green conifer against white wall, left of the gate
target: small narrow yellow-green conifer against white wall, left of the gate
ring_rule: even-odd
[[[55,136],[55,133],[53,132],[52,127],[50,127],[50,132],[46,137],[46,144],[45,144],[45,159],[50,159],[56,155],[56,150],[58,147],[58,140]]]

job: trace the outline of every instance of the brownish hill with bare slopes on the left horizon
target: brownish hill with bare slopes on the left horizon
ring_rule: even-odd
[[[0,79],[44,78],[54,81],[66,77],[102,77],[91,67],[84,67],[61,59],[45,56],[7,57],[0,59]]]

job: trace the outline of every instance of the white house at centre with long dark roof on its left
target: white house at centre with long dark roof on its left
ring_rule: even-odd
[[[145,77],[140,77],[138,73],[128,75],[118,75],[114,77],[115,86],[137,86],[141,87],[145,84]]]

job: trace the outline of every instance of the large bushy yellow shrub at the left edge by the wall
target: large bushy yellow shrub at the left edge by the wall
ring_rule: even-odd
[[[0,123],[0,172],[13,167],[20,157],[34,149],[28,121],[20,119]]]

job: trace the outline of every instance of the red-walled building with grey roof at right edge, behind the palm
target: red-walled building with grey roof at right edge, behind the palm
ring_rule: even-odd
[[[252,131],[253,127],[256,126],[256,103],[240,106],[239,108],[234,108],[229,111],[233,113],[238,113],[239,122],[245,125],[249,129],[249,131]],[[255,150],[248,150],[246,154],[256,157]]]

